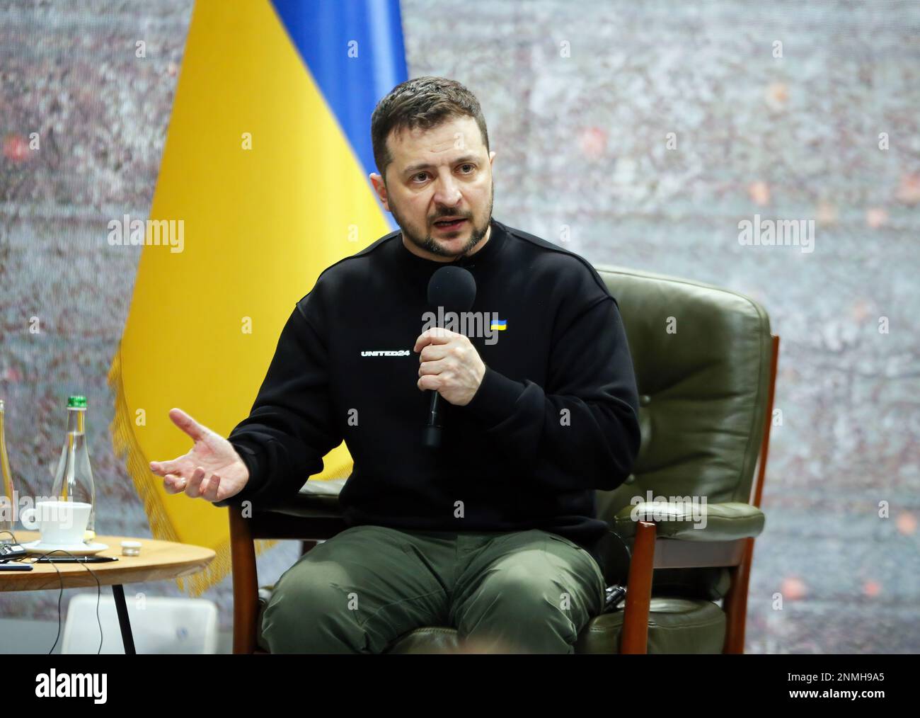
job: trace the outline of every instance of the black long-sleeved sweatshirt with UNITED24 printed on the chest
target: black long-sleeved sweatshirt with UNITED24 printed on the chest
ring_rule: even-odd
[[[443,442],[422,445],[430,392],[416,338],[428,282],[445,266],[396,231],[328,267],[297,302],[248,418],[229,436],[246,499],[295,494],[344,440],[354,460],[339,504],[349,526],[431,531],[542,528],[594,552],[594,490],[626,480],[638,395],[615,298],[578,255],[492,219],[454,263],[472,272],[471,336],[486,365],[466,406],[441,401]],[[450,318],[447,315],[445,318]],[[426,322],[428,322],[426,324]],[[504,329],[499,329],[503,326]],[[494,329],[493,329],[494,328]]]

